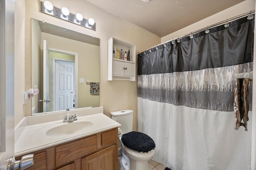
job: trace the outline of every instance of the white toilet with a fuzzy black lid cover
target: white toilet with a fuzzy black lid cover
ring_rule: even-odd
[[[114,119],[115,121],[121,124],[121,126],[118,128],[118,131],[120,131],[118,132],[118,137],[120,141],[120,146],[118,146],[119,148],[118,151],[122,150],[122,167],[124,168],[124,170],[148,170],[147,161],[150,160],[154,155],[154,148],[146,152],[137,152],[135,150],[129,149],[121,141],[122,135],[124,134],[126,134],[127,136],[127,134],[129,133],[140,133],[140,132],[132,132],[133,111],[121,110],[121,111],[111,112],[110,114],[112,119]],[[141,134],[147,136],[146,134],[143,134],[143,133]],[[152,139],[150,138],[150,140]]]

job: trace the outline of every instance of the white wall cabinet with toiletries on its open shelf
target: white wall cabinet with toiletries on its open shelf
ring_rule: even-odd
[[[116,38],[108,40],[108,80],[135,81],[136,45]]]

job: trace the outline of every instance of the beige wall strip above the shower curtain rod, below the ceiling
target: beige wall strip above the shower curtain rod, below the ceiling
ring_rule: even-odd
[[[236,4],[226,10],[223,10],[221,12],[218,12],[217,14],[214,14],[208,18],[205,18],[204,20],[193,23],[192,25],[189,25],[189,26],[184,27],[178,31],[175,31],[174,33],[171,33],[169,35],[162,37],[161,43],[164,43],[165,41],[170,41],[174,38],[178,38],[182,35],[187,35],[187,34],[193,32],[193,31],[196,31],[198,29],[202,29],[209,25],[213,25],[215,23],[219,23],[221,21],[228,20],[230,18],[239,16],[241,14],[250,12],[252,10],[255,10],[255,0],[245,0],[245,1],[240,2],[239,4]]]

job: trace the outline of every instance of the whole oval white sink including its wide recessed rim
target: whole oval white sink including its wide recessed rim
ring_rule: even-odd
[[[36,132],[37,136],[64,137],[68,135],[79,135],[90,131],[95,125],[96,119],[80,119],[73,122],[58,122],[42,127]]]

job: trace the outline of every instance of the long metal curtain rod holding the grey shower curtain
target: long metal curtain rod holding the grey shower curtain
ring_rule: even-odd
[[[207,26],[207,27],[198,29],[198,30],[193,31],[193,32],[190,32],[190,33],[187,33],[187,34],[182,35],[182,36],[180,36],[180,37],[171,39],[171,40],[169,40],[169,41],[164,41],[164,43],[160,43],[160,44],[158,44],[158,45],[155,45],[154,47],[158,47],[159,45],[164,45],[164,44],[166,44],[166,43],[168,43],[168,42],[170,42],[170,41],[174,41],[174,40],[176,40],[176,39],[180,39],[180,38],[186,37],[186,36],[188,36],[188,35],[192,35],[192,34],[198,33],[198,32],[200,32],[200,31],[203,31],[204,29],[210,29],[210,28],[212,28],[212,27],[216,27],[216,26],[221,25],[221,24],[223,24],[223,23],[227,23],[227,22],[230,22],[230,21],[233,21],[233,20],[242,18],[242,17],[247,16],[247,15],[251,15],[251,14],[254,14],[254,13],[255,13],[255,10],[252,10],[252,11],[250,11],[250,12],[246,12],[246,13],[244,13],[244,14],[240,14],[240,15],[235,16],[235,17],[233,17],[233,18],[229,18],[229,19],[227,19],[227,20],[220,21],[220,22],[218,22],[218,23],[215,23],[215,24],[212,24],[212,25],[210,25],[210,26]],[[153,49],[154,47],[151,47],[151,48],[149,48],[149,49]],[[147,49],[147,50],[149,50],[149,49]],[[145,51],[147,51],[147,50],[145,50]],[[144,52],[144,51],[143,51],[143,52]]]

